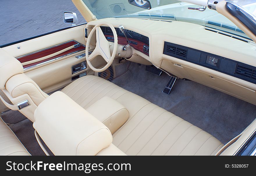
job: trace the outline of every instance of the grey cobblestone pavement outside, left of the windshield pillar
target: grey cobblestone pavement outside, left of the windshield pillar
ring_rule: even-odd
[[[71,26],[63,22],[64,11],[85,22],[71,0],[0,0],[0,45]]]

